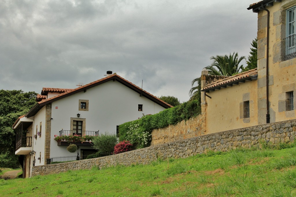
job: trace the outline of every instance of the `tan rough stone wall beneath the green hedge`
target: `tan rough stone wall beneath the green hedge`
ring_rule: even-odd
[[[151,146],[205,135],[205,132],[205,118],[203,115],[198,115],[189,120],[182,120],[176,125],[154,129]]]

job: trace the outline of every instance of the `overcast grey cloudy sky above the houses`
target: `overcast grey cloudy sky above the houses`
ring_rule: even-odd
[[[249,55],[254,2],[0,0],[0,89],[76,88],[111,70],[187,101],[210,56]]]

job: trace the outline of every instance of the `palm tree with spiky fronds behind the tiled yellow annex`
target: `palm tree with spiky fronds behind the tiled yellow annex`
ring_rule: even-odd
[[[243,65],[239,65],[245,56],[238,56],[238,53],[232,55],[217,55],[211,56],[210,59],[214,60],[210,66],[205,67],[209,71],[209,75],[223,75],[232,76],[239,72],[242,72]]]

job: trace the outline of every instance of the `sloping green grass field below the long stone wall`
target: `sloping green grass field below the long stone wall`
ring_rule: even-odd
[[[0,180],[1,196],[296,196],[296,148],[263,148]]]

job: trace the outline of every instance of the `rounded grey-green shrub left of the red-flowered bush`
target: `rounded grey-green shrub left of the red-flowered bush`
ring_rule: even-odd
[[[94,136],[92,139],[94,148],[101,154],[111,155],[114,151],[114,146],[117,144],[116,134],[107,133]]]

